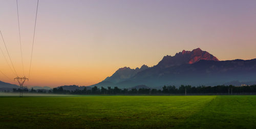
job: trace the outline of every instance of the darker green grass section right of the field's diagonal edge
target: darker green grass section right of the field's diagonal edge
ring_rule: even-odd
[[[182,128],[255,128],[256,96],[217,96]]]

